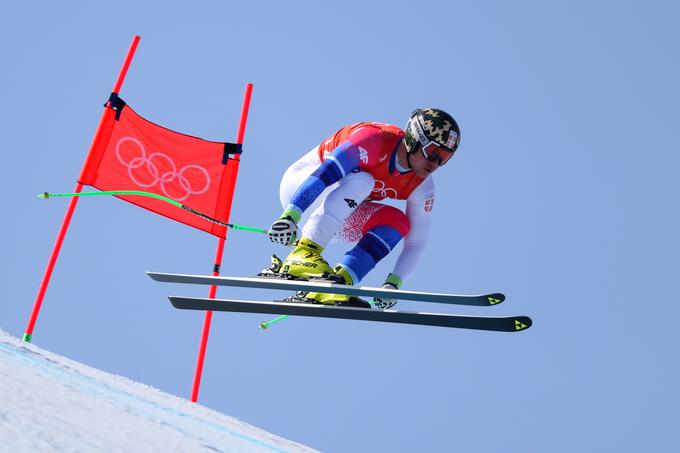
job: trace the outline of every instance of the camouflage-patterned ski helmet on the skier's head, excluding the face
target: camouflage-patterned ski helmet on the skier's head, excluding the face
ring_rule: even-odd
[[[404,131],[409,154],[418,146],[436,143],[453,154],[460,143],[460,128],[451,115],[439,109],[416,109],[406,123]]]

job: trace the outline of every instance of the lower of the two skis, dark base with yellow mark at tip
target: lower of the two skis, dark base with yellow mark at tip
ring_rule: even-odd
[[[177,296],[170,296],[169,299],[175,308],[184,310],[267,313],[273,315],[355,319],[361,321],[393,322],[399,324],[491,330],[497,332],[519,332],[531,327],[531,318],[528,316],[465,316],[397,310],[383,311],[367,308],[336,307],[332,305],[306,303],[224,300]]]

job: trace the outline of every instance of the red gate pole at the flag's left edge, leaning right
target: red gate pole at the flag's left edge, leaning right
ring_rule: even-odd
[[[123,86],[123,81],[125,80],[125,76],[127,75],[127,71],[130,67],[130,63],[132,62],[132,57],[135,54],[135,51],[137,50],[137,44],[139,44],[139,36],[136,36],[132,39],[132,44],[130,44],[130,49],[128,50],[127,56],[125,57],[125,61],[123,62],[123,66],[120,69],[120,73],[118,74],[118,78],[116,79],[116,83],[113,85],[113,92],[118,94],[120,92],[120,88]],[[97,138],[100,135],[100,131],[103,129],[104,124],[106,123],[106,119],[110,114],[114,113],[113,110],[111,109],[105,109],[104,113],[102,114],[101,120],[99,121],[99,126],[97,127],[97,132],[94,135],[94,139],[92,140],[92,145],[90,145],[90,151],[88,151],[88,158],[91,155],[92,148],[95,146],[95,143],[97,143]],[[85,165],[83,168],[87,166],[87,161],[88,159],[85,159]],[[76,188],[73,190],[75,193],[80,193],[83,190],[83,184],[78,182],[76,184]],[[50,254],[50,258],[47,261],[47,267],[45,268],[45,273],[43,275],[42,281],[40,283],[40,288],[38,289],[38,295],[35,298],[35,303],[33,304],[33,310],[31,311],[31,316],[28,319],[28,324],[26,325],[26,332],[24,333],[24,341],[25,342],[30,342],[31,338],[33,337],[33,328],[35,327],[35,322],[38,319],[38,314],[40,313],[40,308],[42,306],[42,301],[43,298],[45,297],[45,292],[47,291],[47,286],[50,283],[50,279],[52,277],[52,271],[54,270],[54,265],[57,262],[57,258],[59,257],[59,252],[61,251],[61,246],[64,242],[64,238],[66,237],[66,231],[68,230],[68,227],[71,223],[71,217],[73,217],[73,211],[76,209],[76,204],[78,204],[78,198],[80,197],[73,197],[71,198],[71,201],[68,204],[68,208],[66,209],[66,215],[64,216],[64,220],[61,223],[61,228],[59,229],[59,234],[57,234],[57,239],[54,243],[54,247],[52,248],[52,253]]]

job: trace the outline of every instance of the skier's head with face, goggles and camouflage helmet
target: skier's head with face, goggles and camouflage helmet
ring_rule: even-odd
[[[406,123],[404,138],[409,158],[420,147],[426,159],[444,165],[458,149],[460,128],[443,110],[416,109]]]

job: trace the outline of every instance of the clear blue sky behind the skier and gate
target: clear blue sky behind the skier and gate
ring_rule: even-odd
[[[452,113],[432,243],[407,288],[502,291],[508,335],[218,314],[199,401],[324,451],[671,451],[678,8],[672,2],[3,4],[5,259],[20,336],[132,36],[121,92],[147,119],[234,140],[254,84],[231,220],[267,227],[287,166],[355,121]],[[81,200],[34,332],[41,347],[188,397],[202,313],[147,270],[209,273],[216,239],[115,199]],[[285,249],[231,232],[222,273]],[[344,249],[327,251],[329,261]],[[394,257],[367,284],[378,284]],[[281,293],[218,291],[266,299]],[[401,302],[401,309],[442,307]]]

